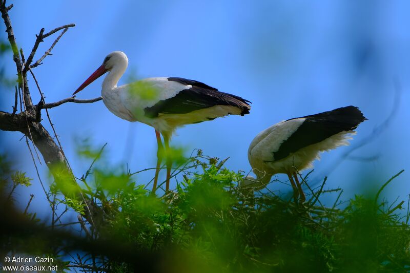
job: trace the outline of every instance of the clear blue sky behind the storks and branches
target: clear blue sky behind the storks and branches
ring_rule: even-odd
[[[53,56],[35,69],[47,102],[69,97],[108,53],[121,50],[128,55],[130,65],[120,83],[144,77],[185,77],[253,102],[250,115],[189,125],[177,130],[172,139],[173,145],[185,146],[187,151],[200,148],[210,156],[230,157],[226,163],[230,169],[250,170],[248,145],[270,125],[348,105],[358,106],[368,118],[351,141],[352,145],[362,141],[366,144],[352,155],[377,159],[344,160],[330,174],[328,187],[344,188],[347,198],[363,185],[378,188],[401,169],[408,169],[408,2],[112,3],[14,3],[10,16],[17,43],[26,55],[40,28],[47,32],[60,25],[76,24],[60,39]],[[4,32],[0,33],[5,40]],[[46,51],[55,37],[46,39],[38,53]],[[12,58],[2,62],[8,76],[15,76]],[[99,96],[102,79],[77,97]],[[398,104],[395,81],[401,86]],[[33,100],[38,101],[34,81],[29,84]],[[10,110],[13,94],[13,89],[2,87],[1,110]],[[386,129],[367,141],[394,107],[395,116]],[[75,155],[75,143],[87,137],[96,145],[108,142],[106,152],[113,165],[128,163],[132,171],[155,165],[154,130],[145,124],[119,119],[101,101],[67,103],[50,110],[50,114],[76,176],[87,170],[89,162]],[[16,167],[34,178],[31,187],[19,192],[21,205],[34,193],[32,209],[44,207],[45,197],[31,157],[25,143],[19,141],[22,134],[0,132],[0,136],[4,143],[0,151],[18,156]],[[342,147],[322,154],[322,159],[315,162],[312,183],[328,174],[348,149]],[[40,169],[47,181],[46,171]],[[405,199],[410,193],[408,171],[386,188],[387,197],[400,195]],[[143,183],[153,175],[140,175],[137,181]],[[279,179],[285,177],[280,175]],[[270,187],[290,190],[279,183]]]

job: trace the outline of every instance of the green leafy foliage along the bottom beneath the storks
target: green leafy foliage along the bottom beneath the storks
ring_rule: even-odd
[[[145,181],[138,181],[140,172],[124,172],[107,164],[101,154],[101,149],[96,152],[99,159],[93,160],[80,179],[83,194],[102,208],[101,217],[94,215],[97,224],[81,226],[87,230],[87,238],[81,240],[104,238],[111,247],[124,249],[135,259],[141,253],[155,255],[157,265],[151,266],[166,268],[159,271],[410,270],[409,211],[401,211],[404,202],[378,202],[381,191],[376,196],[357,195],[324,206],[320,201],[323,195],[341,194],[341,190],[323,191],[319,186],[306,193],[309,201],[301,204],[291,195],[241,188],[242,172],[224,168],[226,160],[204,156],[199,150],[175,164],[172,174],[178,179],[177,186],[159,197],[146,190]],[[68,179],[63,167],[53,170],[62,173],[56,176],[61,181]],[[58,196],[59,191],[55,185],[51,193]],[[77,213],[87,212],[87,206],[77,199],[56,200]],[[92,259],[87,266],[98,271],[146,271],[129,257],[112,256],[111,247],[99,249],[98,255],[84,250],[70,265],[87,269],[81,267],[82,261]]]

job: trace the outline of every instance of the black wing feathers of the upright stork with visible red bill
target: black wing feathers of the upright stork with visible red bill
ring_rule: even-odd
[[[159,113],[186,114],[217,105],[238,107],[243,116],[249,114],[251,109],[248,104],[248,102],[250,103],[249,100],[219,92],[218,89],[203,82],[177,77],[169,77],[168,80],[177,81],[183,85],[191,85],[192,88],[182,90],[175,97],[159,101],[154,106],[145,108],[146,116],[157,117]]]

